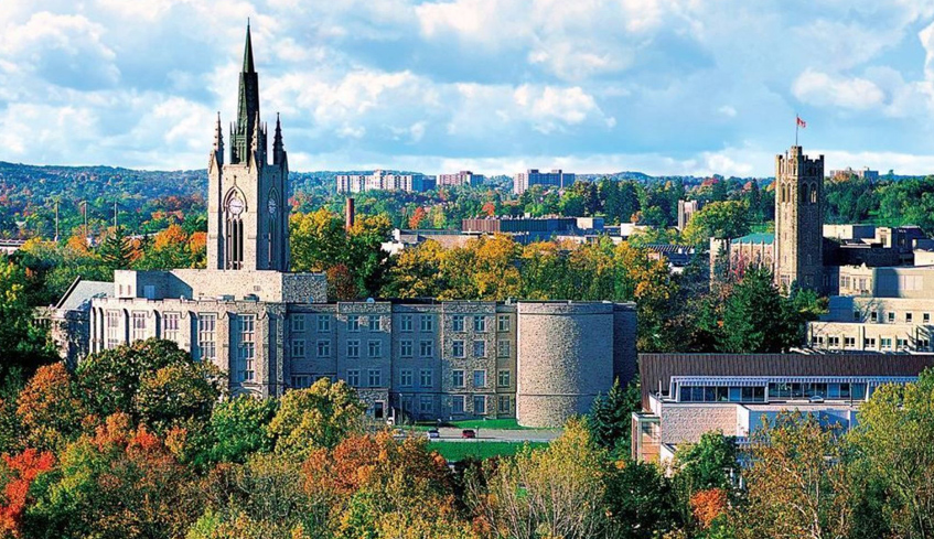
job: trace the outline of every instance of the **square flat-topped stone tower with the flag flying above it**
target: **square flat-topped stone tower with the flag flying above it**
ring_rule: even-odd
[[[775,282],[824,289],[824,155],[799,145],[775,158]]]

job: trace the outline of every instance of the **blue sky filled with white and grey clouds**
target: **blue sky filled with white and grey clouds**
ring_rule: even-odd
[[[297,171],[934,173],[934,0],[0,0],[0,161],[205,168],[248,18]]]

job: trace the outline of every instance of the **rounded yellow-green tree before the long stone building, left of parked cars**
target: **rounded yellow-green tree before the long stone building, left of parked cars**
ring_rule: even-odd
[[[321,378],[308,389],[293,389],[280,399],[269,423],[280,453],[304,457],[315,448],[333,448],[361,427],[365,406],[343,380]]]

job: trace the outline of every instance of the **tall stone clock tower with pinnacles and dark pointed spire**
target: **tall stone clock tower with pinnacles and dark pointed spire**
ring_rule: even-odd
[[[247,24],[237,121],[224,161],[221,115],[207,164],[207,268],[289,271],[289,162],[276,116],[272,155],[259,116],[259,76]]]

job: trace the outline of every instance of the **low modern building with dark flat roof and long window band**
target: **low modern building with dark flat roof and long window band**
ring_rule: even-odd
[[[879,386],[916,381],[932,366],[931,354],[640,354],[632,457],[670,462],[710,431],[743,444],[785,411],[846,431]]]

